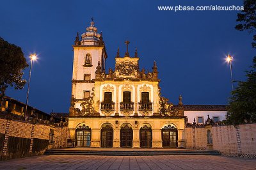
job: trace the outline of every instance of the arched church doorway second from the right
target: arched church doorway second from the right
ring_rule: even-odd
[[[144,125],[140,128],[140,147],[152,147],[152,129],[150,126]]]

